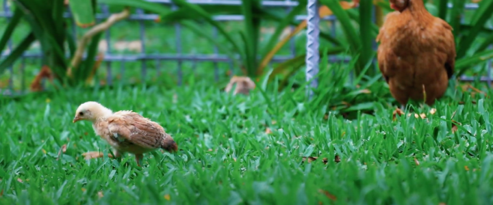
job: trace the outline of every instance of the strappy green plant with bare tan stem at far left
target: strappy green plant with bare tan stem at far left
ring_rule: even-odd
[[[77,46],[75,43],[77,40],[73,37],[71,29],[67,27],[67,22],[64,20],[63,15],[68,7],[64,1],[14,0],[12,2],[14,15],[1,36],[0,49],[5,48],[21,20],[29,23],[31,32],[13,49],[8,57],[0,62],[0,74],[12,66],[37,40],[40,42],[42,50],[43,69],[31,84],[31,90],[40,90],[38,88],[40,85],[37,85],[39,77],[47,75],[52,75],[50,79],[53,77],[62,85],[77,85],[92,78],[92,74],[94,74],[92,71],[96,69],[94,68],[94,58],[97,54],[97,44],[101,31],[112,25],[114,20],[95,26],[86,33],[84,36],[86,38],[81,40]],[[85,28],[94,25],[94,14],[97,6],[95,0],[71,0],[69,3],[79,27]],[[121,14],[123,18],[129,14],[128,11],[123,13]],[[121,20],[121,18],[116,20]],[[86,60],[83,60],[82,55],[85,53],[87,44],[89,45]],[[71,59],[70,62],[67,56],[68,59]],[[72,70],[76,70],[74,74]]]

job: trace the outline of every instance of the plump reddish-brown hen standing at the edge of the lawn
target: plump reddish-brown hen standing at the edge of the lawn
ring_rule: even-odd
[[[429,14],[422,0],[390,0],[377,36],[379,69],[401,105],[410,99],[432,105],[443,96],[455,68],[452,27]]]

